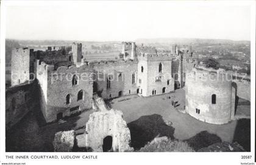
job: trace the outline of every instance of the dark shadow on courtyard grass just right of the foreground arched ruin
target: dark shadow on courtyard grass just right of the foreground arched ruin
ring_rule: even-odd
[[[141,116],[136,121],[127,124],[127,126],[130,129],[130,146],[135,150],[144,147],[145,144],[152,141],[156,136],[167,136],[174,139],[174,128],[166,125],[159,114]]]

